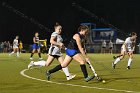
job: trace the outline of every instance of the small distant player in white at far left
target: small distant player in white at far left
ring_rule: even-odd
[[[13,41],[13,51],[9,55],[17,53],[17,57],[19,57],[18,39],[19,39],[19,36],[16,36],[16,38]]]

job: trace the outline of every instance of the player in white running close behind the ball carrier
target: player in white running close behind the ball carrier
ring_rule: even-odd
[[[63,39],[62,39],[62,37],[60,35],[62,27],[61,27],[61,25],[59,25],[57,23],[54,28],[55,28],[55,32],[52,33],[51,38],[50,38],[51,46],[49,48],[49,53],[48,53],[49,56],[48,56],[47,61],[43,61],[43,60],[38,61],[38,62],[31,61],[31,63],[28,65],[28,68],[31,68],[33,66],[46,66],[46,67],[48,67],[53,62],[53,60],[55,58],[60,63],[63,62],[64,57],[63,57],[63,55],[61,53],[61,49],[63,48],[64,44],[62,43]],[[64,71],[64,73],[66,75],[67,80],[70,80],[70,79],[75,77],[75,75],[71,75],[69,73],[68,67],[63,68],[63,71]]]

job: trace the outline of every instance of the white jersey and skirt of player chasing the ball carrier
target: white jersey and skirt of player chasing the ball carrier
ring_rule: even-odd
[[[62,43],[63,42],[63,39],[62,39],[61,35],[59,35],[57,32],[53,32],[51,37],[54,37],[55,41],[57,43],[60,43],[60,42]],[[61,48],[59,46],[57,46],[57,45],[51,44],[48,54],[49,55],[62,56]]]

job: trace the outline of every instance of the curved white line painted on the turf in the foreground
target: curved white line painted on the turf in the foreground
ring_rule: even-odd
[[[109,91],[116,91],[116,92],[126,92],[126,93],[140,93],[140,92],[136,92],[136,91],[128,91],[128,90],[119,90],[119,89],[111,89],[111,88],[101,88],[101,87],[91,87],[91,86],[83,86],[83,85],[76,85],[76,84],[66,84],[66,83],[58,83],[58,82],[53,82],[53,81],[47,81],[47,80],[43,80],[43,79],[38,79],[38,78],[34,78],[31,76],[26,75],[24,72],[27,71],[29,69],[24,69],[20,72],[20,74],[24,77],[33,79],[33,80],[38,80],[38,81],[42,81],[42,82],[47,82],[47,83],[51,83],[51,84],[57,84],[57,85],[66,85],[66,86],[73,86],[73,87],[82,87],[82,88],[90,88],[90,89],[98,89],[98,90],[109,90]]]

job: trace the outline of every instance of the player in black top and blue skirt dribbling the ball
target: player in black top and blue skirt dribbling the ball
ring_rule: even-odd
[[[87,57],[84,51],[84,48],[83,48],[84,45],[82,45],[85,40],[85,36],[89,32],[89,28],[87,26],[80,26],[78,28],[78,31],[79,32],[73,36],[73,38],[71,39],[71,41],[69,42],[66,48],[66,56],[63,63],[57,65],[55,68],[46,72],[47,80],[50,80],[50,76],[52,73],[59,71],[64,67],[67,67],[72,61],[72,59],[80,63],[80,67],[84,74],[84,78],[86,82],[94,78],[94,76],[92,77],[88,76],[85,63],[86,61],[89,61],[89,58]]]

